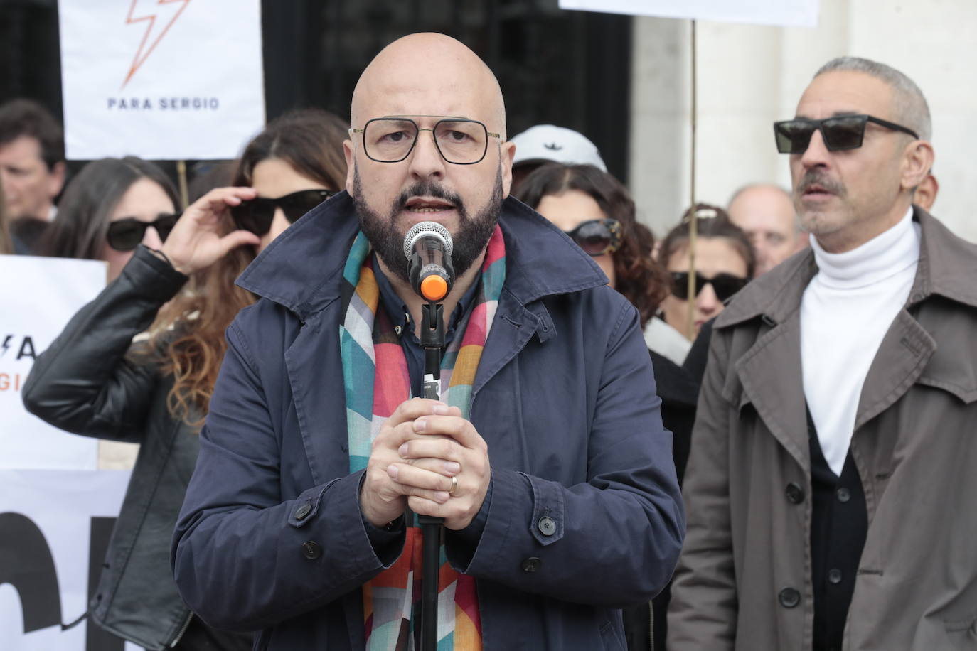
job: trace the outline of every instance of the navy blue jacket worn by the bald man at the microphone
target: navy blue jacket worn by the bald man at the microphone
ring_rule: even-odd
[[[618,608],[661,590],[685,533],[638,314],[522,203],[500,224],[506,281],[471,411],[491,502],[477,545],[451,537],[448,558],[478,580],[486,649],[623,649]],[[358,229],[340,193],[241,275],[263,298],[228,329],[174,534],[191,608],[261,631],[259,649],[363,648],[360,587],[403,549],[374,551],[349,471],[338,332]]]

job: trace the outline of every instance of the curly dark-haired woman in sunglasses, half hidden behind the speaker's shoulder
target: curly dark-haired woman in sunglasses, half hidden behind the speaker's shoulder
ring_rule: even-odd
[[[655,238],[638,223],[627,188],[592,165],[552,163],[534,170],[515,196],[566,232],[604,270],[611,287],[637,307],[645,327],[668,295],[669,280],[652,259]],[[689,459],[699,387],[674,362],[653,350],[649,353],[661,399],[661,421],[672,432],[672,457],[681,482]],[[652,604],[653,648],[664,648],[667,604],[666,588]],[[647,605],[624,609],[629,649],[652,648],[651,617]]]

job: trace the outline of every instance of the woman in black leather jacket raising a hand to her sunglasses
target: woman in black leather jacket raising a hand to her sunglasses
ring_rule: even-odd
[[[88,616],[147,649],[251,648],[250,634],[211,629],[187,609],[170,570],[170,536],[224,331],[254,303],[234,279],[345,183],[347,128],[323,111],[279,118],[245,147],[235,176],[241,186],[207,192],[175,225],[159,217],[172,213],[172,198],[129,211],[106,206],[103,224],[87,226],[90,239],[101,232],[100,242],[128,247],[131,259],[40,355],[23,388],[27,409],[56,427],[141,444]],[[123,213],[140,224],[113,231],[122,220],[111,218]],[[149,337],[134,344],[143,332]]]

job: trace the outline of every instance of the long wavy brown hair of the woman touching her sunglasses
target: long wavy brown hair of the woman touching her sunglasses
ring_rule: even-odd
[[[250,185],[255,166],[277,158],[303,177],[342,189],[346,183],[342,143],[348,128],[339,117],[321,109],[286,113],[244,148],[234,172],[234,185]],[[220,228],[222,235],[236,228],[230,211],[225,212]],[[255,302],[253,294],[234,285],[255,256],[253,247],[237,247],[197,271],[188,290],[164,305],[153,324],[149,349],[159,351],[162,371],[174,378],[167,396],[170,413],[191,427],[201,426],[206,417],[227,352],[225,330],[238,311]]]

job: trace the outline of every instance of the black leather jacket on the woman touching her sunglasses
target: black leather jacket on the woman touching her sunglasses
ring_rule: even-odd
[[[150,650],[174,645],[191,621],[169,546],[199,439],[167,410],[172,376],[127,353],[186,281],[140,246],[37,358],[22,392],[27,410],[55,427],[141,444],[89,616]]]

